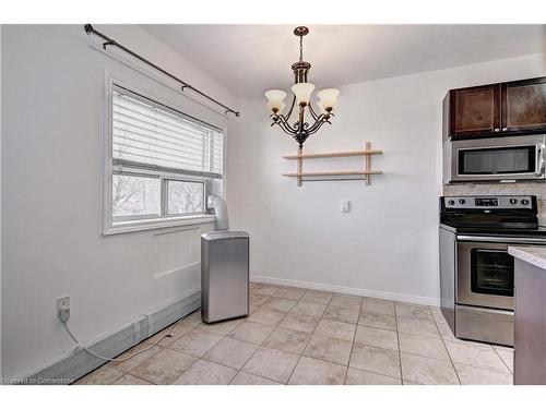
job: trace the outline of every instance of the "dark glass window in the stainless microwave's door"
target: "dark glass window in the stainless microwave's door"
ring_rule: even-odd
[[[534,173],[536,146],[459,151],[459,175]]]

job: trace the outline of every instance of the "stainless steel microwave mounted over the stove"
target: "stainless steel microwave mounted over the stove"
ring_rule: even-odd
[[[443,144],[443,183],[544,180],[546,135],[483,137]]]

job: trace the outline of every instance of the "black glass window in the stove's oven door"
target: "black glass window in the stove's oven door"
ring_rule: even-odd
[[[513,257],[506,250],[473,249],[472,292],[513,297]]]

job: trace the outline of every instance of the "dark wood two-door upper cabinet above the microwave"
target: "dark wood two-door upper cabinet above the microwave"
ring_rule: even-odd
[[[546,76],[451,89],[443,98],[443,137],[546,132]]]

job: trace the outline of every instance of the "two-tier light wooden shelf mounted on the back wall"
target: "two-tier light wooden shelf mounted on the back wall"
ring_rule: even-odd
[[[304,154],[301,149],[298,149],[296,155],[285,155],[283,158],[288,160],[297,160],[297,171],[295,173],[283,173],[287,178],[296,178],[298,187],[301,185],[304,178],[306,181],[309,180],[346,180],[346,179],[364,179],[366,184],[371,183],[371,175],[381,175],[381,170],[371,170],[371,156],[381,155],[383,151],[372,149],[371,143],[366,142],[366,148],[363,151],[342,151],[342,152],[324,152],[318,154]],[[316,172],[305,172],[302,171],[304,159],[320,159],[320,158],[342,158],[351,156],[364,156],[365,167],[364,170],[332,170],[332,171],[316,171]],[[343,179],[346,177],[346,179]],[[361,178],[358,178],[361,177]],[[314,179],[313,179],[314,178]],[[320,178],[320,179],[318,179]],[[329,179],[331,178],[331,179]]]

